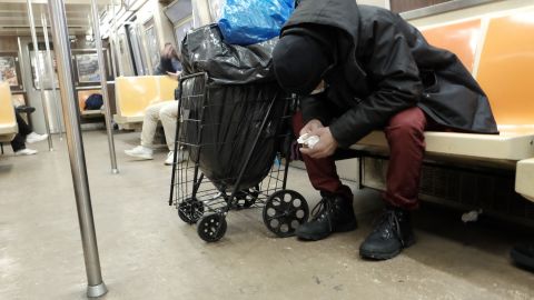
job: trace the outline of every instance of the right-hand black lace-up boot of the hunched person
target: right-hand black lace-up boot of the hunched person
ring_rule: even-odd
[[[409,212],[388,208],[373,232],[359,247],[359,256],[377,260],[390,259],[414,242]]]

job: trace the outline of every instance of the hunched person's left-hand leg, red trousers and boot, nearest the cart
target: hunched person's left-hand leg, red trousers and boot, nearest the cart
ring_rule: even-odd
[[[300,112],[293,117],[293,130],[299,136],[304,127]],[[350,231],[356,229],[356,217],[353,209],[353,192],[343,184],[337,174],[334,157],[312,159],[303,156],[312,186],[320,191],[323,199],[314,208],[313,219],[296,230],[296,236],[305,240],[320,240],[333,232]],[[313,210],[313,212],[314,212]]]

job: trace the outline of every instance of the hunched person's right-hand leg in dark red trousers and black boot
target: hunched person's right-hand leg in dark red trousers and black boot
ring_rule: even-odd
[[[395,114],[384,129],[389,144],[386,211],[362,243],[364,258],[389,259],[414,243],[409,211],[418,207],[419,178],[425,153],[425,113],[417,107]]]

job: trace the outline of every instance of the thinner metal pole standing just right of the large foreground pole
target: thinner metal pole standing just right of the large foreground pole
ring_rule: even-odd
[[[109,106],[107,72],[106,72],[106,66],[103,61],[102,39],[100,38],[100,20],[98,18],[97,10],[98,10],[97,1],[91,0],[92,30],[93,30],[92,33],[95,36],[95,41],[97,46],[98,67],[100,69],[100,84],[102,86],[103,106],[106,108],[106,129],[108,131],[109,158],[111,160],[111,172],[116,174],[119,172],[119,169],[117,169],[117,158],[115,154],[113,126],[111,123],[111,108]]]

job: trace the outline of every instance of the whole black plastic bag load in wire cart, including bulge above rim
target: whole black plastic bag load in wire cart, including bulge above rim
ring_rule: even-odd
[[[270,72],[273,47],[273,41],[225,44],[216,26],[199,28],[184,39],[185,73],[209,74],[206,87],[201,76],[182,81],[184,140],[191,160],[220,190],[257,186],[279,149],[289,101]]]

